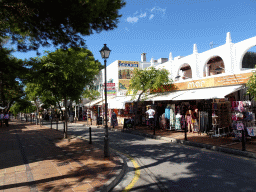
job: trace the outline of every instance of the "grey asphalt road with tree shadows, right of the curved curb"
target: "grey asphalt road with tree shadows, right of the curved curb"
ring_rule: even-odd
[[[120,135],[119,141],[120,149],[155,181],[137,184],[131,191],[255,191],[253,159],[154,140],[141,143]],[[143,183],[141,177],[138,183]]]

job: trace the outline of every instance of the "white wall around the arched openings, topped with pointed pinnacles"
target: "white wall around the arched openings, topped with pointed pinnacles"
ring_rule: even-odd
[[[194,50],[191,55],[179,58],[176,57],[172,59],[170,57],[169,61],[156,66],[156,68],[166,68],[170,71],[170,77],[175,80],[175,77],[179,74],[180,68],[183,64],[187,63],[190,65],[192,70],[192,80],[204,78],[203,74],[206,70],[207,62],[214,56],[219,56],[224,61],[225,74],[238,74],[245,71],[251,71],[252,69],[242,70],[242,60],[245,53],[253,46],[256,45],[256,37],[246,39],[238,43],[232,43],[230,33],[226,35],[226,43],[219,47],[207,50],[202,53],[198,53],[196,45],[194,45]],[[170,55],[172,55],[170,53]],[[179,74],[181,75],[181,74]],[[219,74],[221,76],[223,74]],[[215,75],[218,76],[218,75]],[[181,80],[180,81],[190,81]]]

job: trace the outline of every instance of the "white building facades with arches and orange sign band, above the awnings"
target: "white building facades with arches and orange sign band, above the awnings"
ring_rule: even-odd
[[[141,69],[150,66],[167,69],[170,72],[170,79],[175,82],[178,90],[245,84],[256,62],[248,68],[243,66],[242,61],[246,52],[255,45],[256,37],[232,43],[231,34],[228,32],[224,45],[202,53],[198,52],[196,44],[193,46],[192,54],[187,56],[173,58],[170,53],[169,58],[154,60],[152,57],[150,62],[147,62],[146,53],[142,53],[140,62],[116,60],[108,65],[107,82],[115,83],[116,96],[126,94],[127,89],[122,89],[122,83],[120,84],[124,79],[120,76],[119,64],[123,62],[131,65],[136,63]],[[131,76],[132,74],[129,77]],[[125,78],[127,82],[129,82],[129,77]],[[95,84],[101,93],[103,92],[100,85],[103,85],[104,81],[103,69],[101,78]],[[129,84],[127,82],[126,84]]]

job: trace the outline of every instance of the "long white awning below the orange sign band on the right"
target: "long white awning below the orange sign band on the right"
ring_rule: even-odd
[[[201,99],[221,99],[225,96],[243,89],[244,85],[233,85],[225,87],[212,87],[204,89],[192,89],[184,91],[172,100],[201,100]]]

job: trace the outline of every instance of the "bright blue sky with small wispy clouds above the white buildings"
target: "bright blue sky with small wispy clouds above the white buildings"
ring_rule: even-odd
[[[147,61],[186,56],[197,44],[198,52],[225,44],[226,33],[236,43],[256,36],[255,0],[127,0],[120,10],[123,16],[118,27],[86,36],[87,48],[102,64],[99,50],[106,43],[112,50],[107,64],[115,60],[140,61],[147,53]],[[40,49],[42,52],[45,49]],[[52,47],[47,49],[54,51]],[[35,52],[13,54],[24,59]]]

